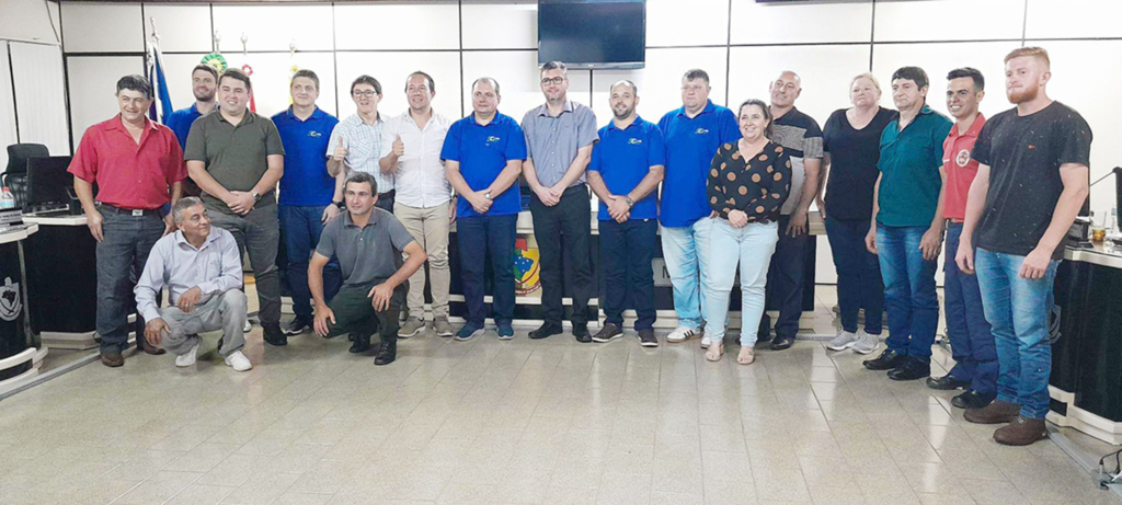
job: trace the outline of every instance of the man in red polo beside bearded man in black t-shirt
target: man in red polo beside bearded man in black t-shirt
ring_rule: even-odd
[[[953,258],[966,217],[966,195],[978,172],[971,158],[974,141],[985,125],[978,102],[985,97],[985,79],[976,68],[947,74],[947,111],[955,126],[942,141],[942,214],[947,218],[947,257],[944,260],[944,312],[955,367],[940,378],[928,378],[932,389],[966,389],[951,398],[959,408],[981,408],[997,395],[997,347],[982,310],[978,279],[958,269]]]

